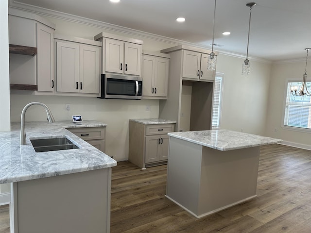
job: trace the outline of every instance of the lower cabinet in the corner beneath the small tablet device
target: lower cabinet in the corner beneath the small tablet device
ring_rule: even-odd
[[[98,150],[105,152],[106,127],[67,128],[67,130],[82,138]]]

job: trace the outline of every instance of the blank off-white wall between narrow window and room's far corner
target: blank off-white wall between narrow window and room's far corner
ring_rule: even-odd
[[[270,64],[250,61],[250,74],[242,75],[244,59],[220,54],[216,71],[224,73],[221,129],[265,135]]]

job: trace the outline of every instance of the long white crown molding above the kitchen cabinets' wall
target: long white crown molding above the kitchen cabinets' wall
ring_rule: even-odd
[[[183,41],[183,40],[177,40],[174,38],[161,36],[161,35],[157,35],[157,34],[153,34],[153,33],[146,33],[146,32],[142,32],[139,30],[126,28],[126,27],[122,27],[119,25],[115,25],[115,24],[105,23],[102,21],[94,20],[94,19],[70,15],[67,13],[59,12],[59,11],[53,11],[50,9],[37,7],[34,5],[21,3],[21,2],[18,2],[17,0],[9,0],[8,6],[12,7],[12,8],[17,8],[20,10],[28,11],[31,13],[35,13],[35,14],[38,14],[41,16],[53,17],[53,18],[58,18],[58,19],[67,20],[67,21],[71,21],[71,22],[82,23],[82,24],[85,24],[88,26],[93,26],[93,27],[95,26],[95,27],[99,27],[99,28],[103,28],[106,30],[119,32],[119,33],[127,33],[127,34],[130,34],[133,36],[139,36],[139,37],[143,37],[143,38],[153,39],[153,40],[157,40],[160,42],[172,43],[172,44],[176,44],[176,45],[183,44],[183,45],[198,47],[198,48],[205,49],[205,50],[211,50],[211,47],[206,47],[206,46],[203,46],[201,44],[191,43],[191,42]],[[245,55],[242,55],[242,54],[228,52],[225,50],[215,50],[215,51],[219,52],[219,54],[245,59]],[[250,61],[257,61],[257,62],[261,62],[261,63],[265,63],[265,64],[271,64],[272,63],[272,61],[270,61],[270,60],[261,59],[261,58],[257,58],[257,57],[248,57],[248,59]]]

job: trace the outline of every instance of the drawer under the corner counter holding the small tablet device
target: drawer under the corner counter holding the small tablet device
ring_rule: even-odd
[[[104,127],[87,127],[87,128],[69,128],[71,133],[74,133],[83,140],[94,140],[94,139],[104,139],[105,138],[105,128]]]

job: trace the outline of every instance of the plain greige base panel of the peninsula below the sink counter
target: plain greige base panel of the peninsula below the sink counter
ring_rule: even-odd
[[[111,167],[16,182],[11,233],[109,233]]]

